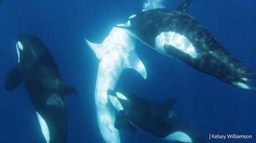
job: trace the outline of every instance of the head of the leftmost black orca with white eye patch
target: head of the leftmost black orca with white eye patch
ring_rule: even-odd
[[[16,50],[18,54],[18,63],[32,62],[36,60],[39,55],[44,54],[45,47],[39,38],[30,34],[20,34],[16,42]]]

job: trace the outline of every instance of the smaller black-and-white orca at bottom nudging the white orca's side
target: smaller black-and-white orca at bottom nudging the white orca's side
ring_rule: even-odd
[[[176,98],[158,104],[132,93],[108,92],[108,94],[110,102],[118,111],[114,123],[117,129],[127,125],[132,131],[141,129],[170,142],[205,142],[172,111]]]

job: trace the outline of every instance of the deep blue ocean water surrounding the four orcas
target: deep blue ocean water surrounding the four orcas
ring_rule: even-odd
[[[98,59],[84,36],[101,42],[113,25],[142,10],[138,0],[6,0],[0,3],[0,142],[45,142],[24,85],[4,90],[6,75],[17,62],[16,36],[30,33],[51,51],[63,81],[79,96],[68,96],[67,142],[104,142],[96,121],[94,88]],[[166,0],[174,8],[183,0]],[[196,0],[189,13],[230,53],[256,71],[256,1]],[[138,42],[147,80],[125,70],[118,88],[161,103],[177,97],[174,111],[208,142],[256,142],[256,91],[236,88],[198,72],[176,59],[155,53]],[[209,133],[253,135],[251,140],[209,140]],[[122,142],[164,142],[128,128]]]

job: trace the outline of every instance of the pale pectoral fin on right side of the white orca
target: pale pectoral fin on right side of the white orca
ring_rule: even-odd
[[[138,55],[135,51],[131,51],[129,56],[125,59],[125,63],[123,64],[123,68],[133,68],[137,72],[139,72],[144,79],[147,78],[147,71],[144,64],[139,59]]]

